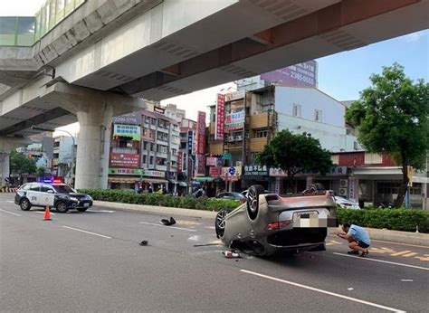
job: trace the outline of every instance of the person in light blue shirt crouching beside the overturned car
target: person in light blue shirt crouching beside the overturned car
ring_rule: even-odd
[[[367,256],[367,248],[371,244],[368,233],[362,227],[349,223],[344,223],[341,229],[343,232],[334,232],[334,234],[349,242],[348,247],[351,251],[348,251],[348,254],[359,254],[361,251],[361,257]]]

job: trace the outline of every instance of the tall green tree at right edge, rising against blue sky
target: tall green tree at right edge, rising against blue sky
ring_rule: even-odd
[[[429,85],[424,80],[413,83],[397,63],[369,79],[372,86],[361,91],[346,119],[358,128],[358,140],[368,152],[386,152],[402,166],[403,184],[396,198],[400,207],[409,182],[407,166],[423,169],[429,149]]]

